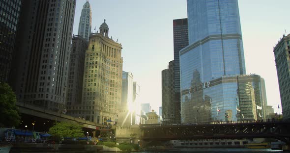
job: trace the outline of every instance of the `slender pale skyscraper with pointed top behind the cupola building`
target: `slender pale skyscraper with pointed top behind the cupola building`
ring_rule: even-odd
[[[91,31],[91,9],[90,4],[87,2],[84,4],[82,9],[82,14],[80,17],[79,23],[79,32],[78,35],[83,38],[89,39],[90,31]]]

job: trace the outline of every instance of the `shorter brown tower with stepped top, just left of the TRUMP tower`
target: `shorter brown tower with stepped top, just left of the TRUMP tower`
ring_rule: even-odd
[[[176,103],[174,90],[174,62],[162,71],[162,124],[180,123],[180,103]]]

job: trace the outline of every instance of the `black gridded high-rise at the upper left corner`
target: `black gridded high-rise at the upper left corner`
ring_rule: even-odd
[[[0,82],[8,82],[21,4],[22,0],[0,1]]]

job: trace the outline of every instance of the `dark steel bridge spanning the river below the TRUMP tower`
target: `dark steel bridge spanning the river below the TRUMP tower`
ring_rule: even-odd
[[[290,144],[290,122],[141,125],[142,141],[274,138]]]

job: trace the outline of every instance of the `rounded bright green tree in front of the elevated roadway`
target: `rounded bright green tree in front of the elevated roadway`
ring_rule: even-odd
[[[84,136],[82,126],[74,123],[59,122],[55,126],[49,128],[49,134],[61,137],[78,138]]]

